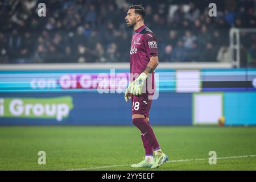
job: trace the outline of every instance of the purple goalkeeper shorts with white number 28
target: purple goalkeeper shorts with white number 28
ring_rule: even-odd
[[[148,100],[147,93],[143,93],[141,96],[131,94],[131,114],[142,114],[148,118],[151,103],[152,100]]]

